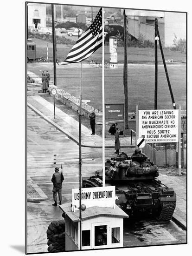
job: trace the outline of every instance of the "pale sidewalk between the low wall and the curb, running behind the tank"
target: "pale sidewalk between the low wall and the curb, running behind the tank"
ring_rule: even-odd
[[[46,101],[39,95],[32,95],[27,97],[27,105],[38,115],[42,116],[46,121],[55,126],[58,130],[67,135],[71,140],[79,144],[79,122],[74,120],[71,116],[65,114],[59,108],[55,108],[56,118],[54,119],[54,110],[53,104]],[[83,147],[94,147],[102,148],[102,137],[99,135],[91,135],[91,130],[84,125],[82,125],[81,132],[81,146]],[[121,136],[121,147],[122,148],[134,148],[135,147],[135,138],[131,145],[130,137]],[[115,147],[115,136],[107,137],[105,139],[105,148],[114,148]]]

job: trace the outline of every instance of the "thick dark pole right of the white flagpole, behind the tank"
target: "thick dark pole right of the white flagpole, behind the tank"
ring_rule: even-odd
[[[124,16],[124,66],[123,66],[123,85],[125,94],[125,129],[128,129],[128,56],[127,56],[127,17]]]

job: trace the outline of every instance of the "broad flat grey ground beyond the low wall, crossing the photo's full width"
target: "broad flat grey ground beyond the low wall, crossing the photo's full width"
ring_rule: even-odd
[[[49,70],[53,81],[52,63],[28,63],[28,70],[41,76],[42,70]],[[57,85],[79,98],[81,65],[57,65]],[[173,96],[178,108],[186,109],[186,64],[167,65]],[[105,102],[124,102],[123,66],[116,69],[105,68]],[[102,68],[84,65],[82,98],[90,100],[90,105],[102,109]],[[166,75],[162,64],[158,65],[158,109],[173,109]],[[154,108],[154,65],[128,65],[128,111]]]

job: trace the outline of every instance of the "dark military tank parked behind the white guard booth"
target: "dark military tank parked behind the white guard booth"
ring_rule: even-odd
[[[116,204],[129,216],[149,212],[158,221],[169,221],[176,206],[176,194],[157,179],[158,166],[138,149],[128,157],[121,153],[105,163],[105,186],[115,186]],[[83,188],[102,187],[102,172],[83,177]]]

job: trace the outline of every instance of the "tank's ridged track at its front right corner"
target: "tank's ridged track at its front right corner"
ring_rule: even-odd
[[[176,202],[163,202],[160,216],[157,217],[158,221],[170,221],[175,210]]]

